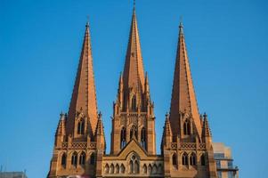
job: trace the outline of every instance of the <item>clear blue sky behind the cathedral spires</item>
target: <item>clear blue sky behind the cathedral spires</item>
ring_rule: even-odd
[[[265,177],[268,150],[268,3],[261,0],[137,0],[142,56],[155,102],[157,147],[169,110],[178,23],[191,61],[199,110],[214,142],[231,146],[240,177]],[[108,151],[122,71],[130,0],[0,0],[0,164],[49,170],[61,110],[68,111],[86,16]],[[159,72],[161,71],[161,72]]]

